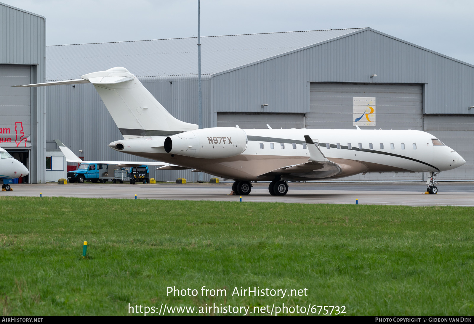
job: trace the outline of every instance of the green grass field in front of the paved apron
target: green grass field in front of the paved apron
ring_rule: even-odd
[[[128,315],[128,303],[195,313],[214,303],[250,311],[284,303],[345,306],[347,315],[474,315],[472,207],[0,203],[3,315]],[[199,294],[167,296],[173,286]],[[227,296],[203,297],[202,286]],[[308,296],[231,296],[234,287],[306,288]]]

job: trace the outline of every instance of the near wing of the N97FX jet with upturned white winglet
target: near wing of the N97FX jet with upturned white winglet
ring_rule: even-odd
[[[319,147],[311,140],[310,136],[305,135],[304,139],[306,140],[306,145],[310,152],[309,162],[284,166],[263,175],[287,174],[291,178],[304,178],[305,174],[317,174],[320,179],[324,179],[334,177],[341,173],[341,167],[337,163],[329,161],[321,150],[319,150]]]

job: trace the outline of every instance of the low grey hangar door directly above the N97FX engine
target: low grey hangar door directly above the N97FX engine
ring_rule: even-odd
[[[294,113],[217,113],[218,127],[304,128],[304,114]]]

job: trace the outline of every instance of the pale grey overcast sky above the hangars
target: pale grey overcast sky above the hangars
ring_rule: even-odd
[[[197,36],[197,0],[1,0],[46,17],[46,45]],[[201,0],[201,36],[372,27],[474,64],[473,0]]]

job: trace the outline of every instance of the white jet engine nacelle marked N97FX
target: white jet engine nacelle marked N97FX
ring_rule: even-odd
[[[166,137],[166,153],[203,159],[226,158],[245,151],[247,135],[240,128],[212,127]]]

